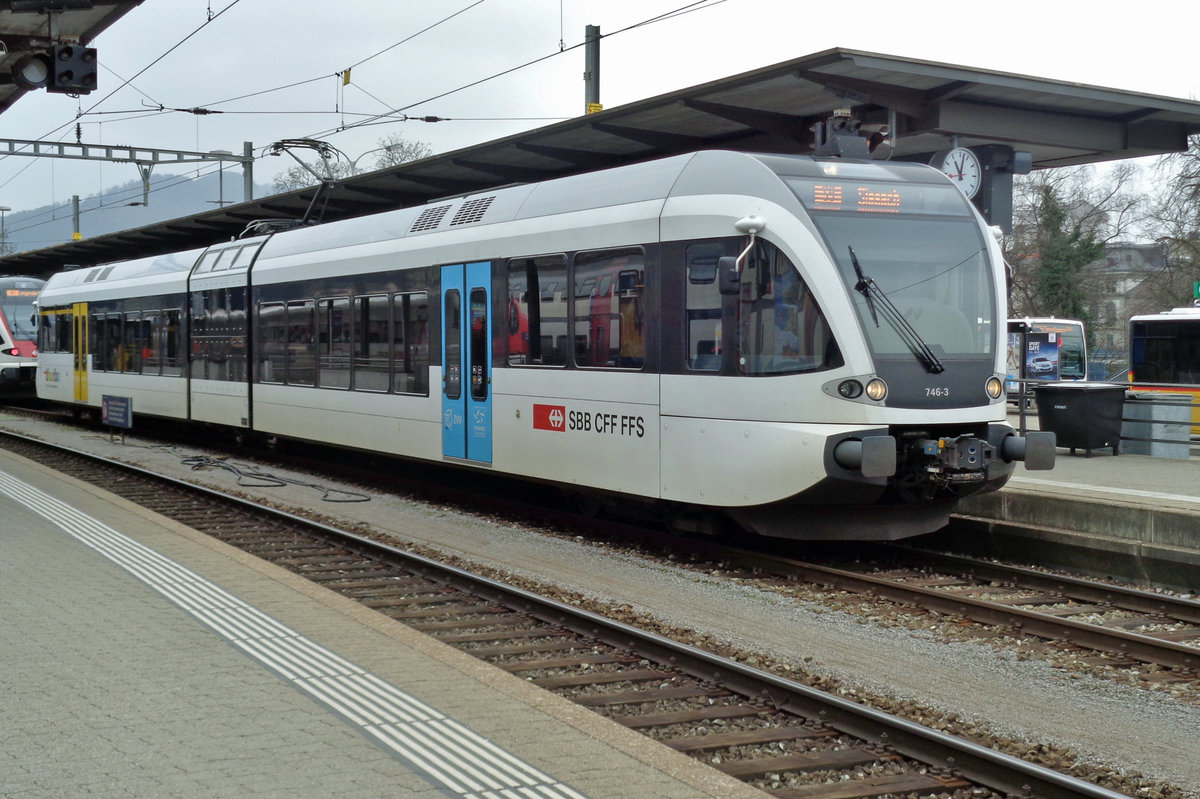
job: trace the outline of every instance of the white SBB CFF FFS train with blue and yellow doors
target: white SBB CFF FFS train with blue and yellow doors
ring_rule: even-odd
[[[37,391],[892,539],[1052,465],[1003,287],[935,169],[703,151],[55,275]]]

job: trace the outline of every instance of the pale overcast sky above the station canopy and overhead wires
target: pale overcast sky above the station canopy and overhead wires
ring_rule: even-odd
[[[78,122],[84,143],[239,154],[242,142],[260,152],[278,139],[320,137],[358,158],[400,134],[445,152],[581,114],[578,46],[589,24],[605,36],[606,108],[832,47],[1200,98],[1194,0],[1142,0],[1122,6],[1121,18],[1057,0],[688,4],[144,0],[92,42],[97,91],[78,100],[30,92],[0,116],[0,136],[74,142]],[[636,26],[680,8],[689,11]],[[343,88],[336,74],[347,67]],[[360,125],[397,109],[451,121]],[[270,184],[293,163],[259,161],[256,181]],[[227,175],[227,192],[240,191],[240,174]],[[0,158],[0,205],[67,203],[137,178],[132,164]]]

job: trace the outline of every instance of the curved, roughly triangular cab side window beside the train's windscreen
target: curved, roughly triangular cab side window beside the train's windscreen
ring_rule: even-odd
[[[742,269],[738,371],[786,374],[841,365],[841,350],[804,278],[778,247],[758,239]]]

